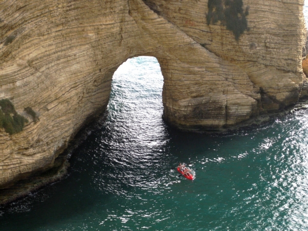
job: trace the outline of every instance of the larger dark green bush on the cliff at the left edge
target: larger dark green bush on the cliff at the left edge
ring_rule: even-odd
[[[28,122],[22,115],[17,114],[14,105],[8,99],[0,100],[0,127],[9,134],[20,132]]]

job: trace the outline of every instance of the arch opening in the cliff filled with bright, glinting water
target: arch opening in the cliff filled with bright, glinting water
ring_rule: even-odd
[[[107,123],[113,123],[126,139],[146,142],[161,136],[164,78],[156,57],[128,59],[114,72],[107,106]],[[141,141],[142,142],[142,141]]]

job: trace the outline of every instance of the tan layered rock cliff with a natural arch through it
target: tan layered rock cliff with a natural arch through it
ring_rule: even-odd
[[[113,72],[157,57],[164,118],[219,130],[301,95],[303,0],[1,0],[0,99],[28,117],[0,131],[0,186],[53,165],[105,110]],[[31,107],[34,122],[23,110]]]

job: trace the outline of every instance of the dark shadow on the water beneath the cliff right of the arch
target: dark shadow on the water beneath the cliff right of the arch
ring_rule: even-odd
[[[166,131],[172,155],[178,157],[180,161],[188,163],[194,161],[194,158],[197,158],[196,155],[207,155],[208,158],[228,158],[239,155],[238,144],[242,139],[245,139],[245,143],[247,143],[245,137],[250,136],[251,143],[253,143],[256,136],[262,137],[263,132],[272,127],[274,123],[275,120],[272,119],[260,126],[251,126],[225,133],[183,132],[170,126],[166,126]],[[228,149],[224,149],[224,146],[227,146]]]

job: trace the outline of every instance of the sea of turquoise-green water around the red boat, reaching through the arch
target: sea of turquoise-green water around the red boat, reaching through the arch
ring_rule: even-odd
[[[308,110],[209,136],[162,120],[153,57],[113,76],[108,118],[69,175],[0,207],[0,230],[307,230]],[[308,104],[308,103],[307,103]],[[179,162],[196,169],[178,177]]]

